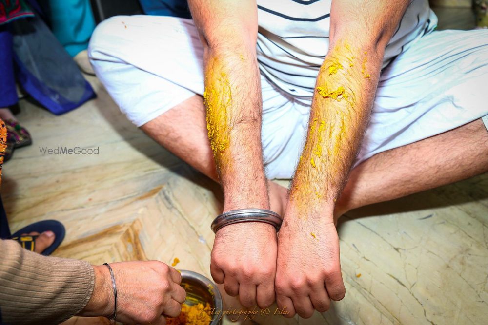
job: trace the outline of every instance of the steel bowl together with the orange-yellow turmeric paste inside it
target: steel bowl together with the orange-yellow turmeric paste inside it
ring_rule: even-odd
[[[180,316],[167,318],[167,325],[221,324],[222,296],[215,284],[202,274],[180,270],[186,300]]]

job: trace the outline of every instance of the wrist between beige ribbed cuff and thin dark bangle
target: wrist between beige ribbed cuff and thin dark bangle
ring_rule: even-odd
[[[114,295],[112,280],[107,267],[93,265],[95,272],[95,285],[88,304],[81,310],[79,316],[105,316],[109,317],[114,309]]]

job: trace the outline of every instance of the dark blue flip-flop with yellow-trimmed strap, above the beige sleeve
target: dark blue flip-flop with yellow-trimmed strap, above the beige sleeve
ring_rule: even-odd
[[[57,249],[60,245],[61,242],[64,239],[64,235],[66,234],[66,230],[64,229],[64,226],[62,225],[61,222],[56,221],[56,220],[43,220],[39,222],[35,222],[33,224],[30,224],[27,227],[24,227],[14,233],[12,235],[12,239],[17,240],[22,247],[28,250],[34,250],[35,247],[35,240],[38,236],[29,236],[29,235],[24,235],[22,236],[23,233],[31,233],[31,232],[39,232],[40,234],[44,231],[51,230],[54,232],[54,235],[56,236],[54,239],[54,243],[51,244],[48,248],[44,249],[44,251],[41,253],[41,255],[51,255],[51,253]]]

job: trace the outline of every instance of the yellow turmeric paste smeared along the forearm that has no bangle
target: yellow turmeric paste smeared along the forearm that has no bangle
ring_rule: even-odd
[[[360,79],[370,78],[366,71],[366,55],[366,51],[343,43],[342,46],[334,47],[322,64],[312,103],[313,115],[290,191],[290,200],[299,196],[302,202],[312,198],[322,199],[329,187],[338,186],[331,180],[325,188],[317,191],[314,184],[344,168],[341,161],[347,154],[344,152],[345,141],[350,141],[347,133],[356,123],[353,113],[358,98],[354,89],[359,89]],[[327,170],[323,169],[325,162],[328,162]]]

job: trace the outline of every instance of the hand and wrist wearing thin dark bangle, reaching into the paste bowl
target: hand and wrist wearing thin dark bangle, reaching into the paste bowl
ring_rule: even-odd
[[[166,324],[165,316],[177,317],[186,292],[181,274],[159,261],[111,263],[117,285],[117,318],[124,324]],[[110,317],[114,291],[106,266],[93,266],[95,287],[79,316]]]

